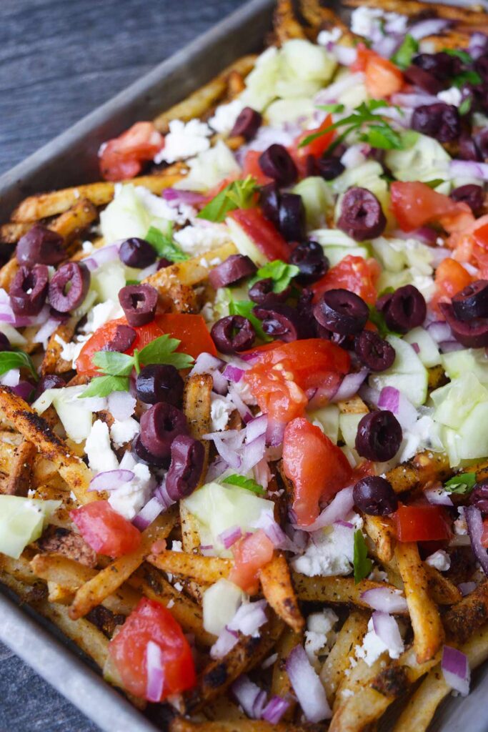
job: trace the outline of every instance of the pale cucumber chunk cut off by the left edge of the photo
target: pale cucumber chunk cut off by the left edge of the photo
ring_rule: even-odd
[[[0,552],[18,559],[60,506],[61,501],[0,495]]]

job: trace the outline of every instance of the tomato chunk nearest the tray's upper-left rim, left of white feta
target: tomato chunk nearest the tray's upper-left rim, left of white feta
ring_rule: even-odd
[[[118,138],[105,143],[100,154],[100,173],[107,181],[133,178],[142,164],[152,160],[165,138],[152,122],[136,122]]]

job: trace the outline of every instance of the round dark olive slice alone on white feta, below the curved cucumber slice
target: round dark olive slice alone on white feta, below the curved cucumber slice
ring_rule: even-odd
[[[402,436],[402,427],[391,411],[369,412],[359,422],[356,450],[361,458],[386,463],[397,454]]]

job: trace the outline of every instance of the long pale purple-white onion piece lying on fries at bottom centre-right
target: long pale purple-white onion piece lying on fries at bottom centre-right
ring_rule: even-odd
[[[310,664],[303,646],[295,646],[286,660],[286,671],[296,698],[309,722],[322,722],[332,716],[326,692]]]

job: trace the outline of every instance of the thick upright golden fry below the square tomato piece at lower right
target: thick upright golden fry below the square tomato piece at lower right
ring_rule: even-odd
[[[418,663],[423,663],[435,657],[442,646],[443,625],[440,621],[439,610],[428,592],[427,575],[420,556],[418,556],[416,543],[398,542],[395,556],[405,585],[405,597],[413,627],[413,646]]]

